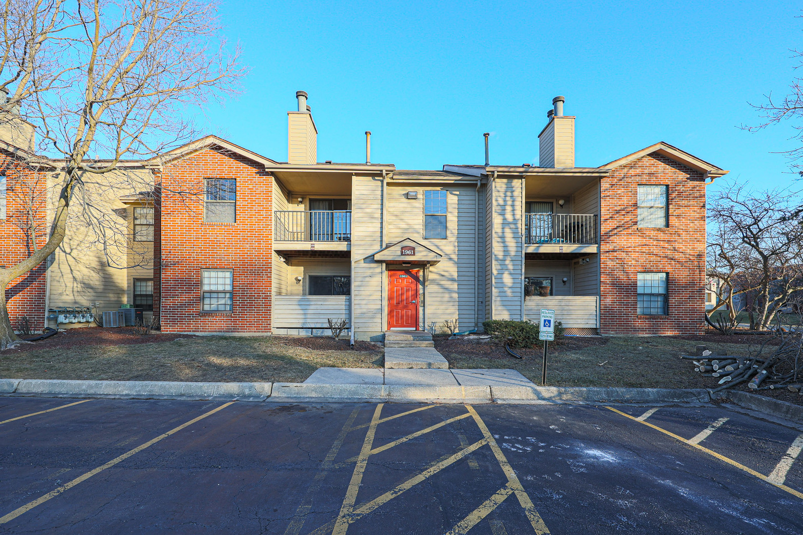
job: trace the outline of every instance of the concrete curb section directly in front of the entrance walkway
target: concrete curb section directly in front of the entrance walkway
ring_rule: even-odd
[[[347,401],[491,403],[491,387],[274,383],[272,395],[267,401],[287,403]]]

